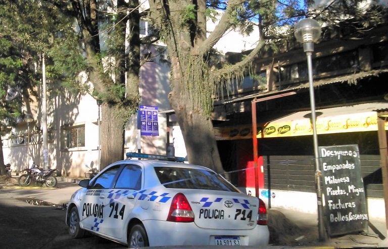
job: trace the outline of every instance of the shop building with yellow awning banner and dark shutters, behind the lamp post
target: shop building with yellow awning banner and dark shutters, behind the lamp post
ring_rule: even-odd
[[[386,147],[379,141],[386,137],[388,122],[382,121],[383,129],[378,122],[379,110],[388,107],[387,27],[358,37],[347,35],[345,29],[338,30],[341,39],[326,32],[327,37],[314,45],[318,145],[358,145],[368,213],[384,220],[382,169],[387,165],[380,154]],[[233,60],[239,54],[229,56]],[[316,213],[306,54],[290,43],[281,53],[262,54],[255,67],[256,75],[236,84],[234,96],[215,103],[218,116],[223,116],[214,120],[223,166],[232,172],[229,179],[247,193],[255,193],[258,180],[258,196],[269,207]]]

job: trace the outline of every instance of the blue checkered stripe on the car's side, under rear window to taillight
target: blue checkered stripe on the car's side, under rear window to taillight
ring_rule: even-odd
[[[147,190],[141,190],[136,192],[130,192],[129,190],[111,190],[107,198],[109,199],[109,203],[114,202],[120,197],[127,196],[128,194],[133,194],[135,198],[137,197],[137,199],[140,201],[144,201],[147,197],[149,197],[150,202],[166,203],[168,200],[171,199],[171,197],[168,196],[170,193],[158,193],[156,191],[151,191],[150,193],[146,194],[146,192]]]

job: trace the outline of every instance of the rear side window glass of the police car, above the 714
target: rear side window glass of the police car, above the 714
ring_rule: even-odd
[[[137,165],[125,165],[116,181],[115,188],[140,190],[141,167]]]

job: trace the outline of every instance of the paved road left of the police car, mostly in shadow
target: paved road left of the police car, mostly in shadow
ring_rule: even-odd
[[[46,195],[49,199],[57,198],[59,203],[55,204],[61,204],[61,200],[70,198],[71,192],[63,186],[54,190],[0,189],[0,248],[127,248],[93,235],[72,239],[65,224],[65,210],[60,206],[35,206],[26,202]]]

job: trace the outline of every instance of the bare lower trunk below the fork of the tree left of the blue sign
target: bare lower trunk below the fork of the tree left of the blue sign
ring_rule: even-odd
[[[124,118],[122,111],[107,103],[102,105],[100,169],[124,157]]]

